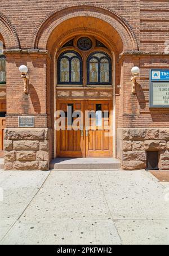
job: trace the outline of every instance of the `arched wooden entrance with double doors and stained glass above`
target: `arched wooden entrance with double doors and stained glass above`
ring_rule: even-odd
[[[97,37],[77,35],[57,51],[56,110],[58,157],[113,156],[113,56]]]

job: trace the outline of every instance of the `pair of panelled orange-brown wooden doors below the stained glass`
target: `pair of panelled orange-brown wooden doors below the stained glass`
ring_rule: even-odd
[[[101,116],[102,127],[96,126],[95,130],[91,129],[91,119],[90,129],[88,131],[86,131],[86,124],[84,123],[84,126],[82,127],[83,136],[81,130],[68,130],[68,123],[66,118],[66,130],[57,131],[57,157],[112,157],[113,138],[112,136],[108,136],[110,132],[108,127],[110,125],[112,126],[112,101],[67,100],[63,102],[62,100],[59,100],[57,101],[57,110],[60,109],[64,112],[67,112],[68,104],[73,104],[72,106],[74,110],[81,110],[83,114],[85,113],[85,110],[94,110],[96,112],[97,105],[101,105],[102,113],[104,113],[104,111],[108,111],[108,113],[106,113],[106,116]],[[99,124],[100,122],[98,122],[98,125]],[[104,125],[106,129],[103,129]]]

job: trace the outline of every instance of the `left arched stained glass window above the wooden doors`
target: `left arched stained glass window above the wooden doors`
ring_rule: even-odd
[[[74,51],[64,52],[58,59],[58,83],[82,84],[82,58]]]

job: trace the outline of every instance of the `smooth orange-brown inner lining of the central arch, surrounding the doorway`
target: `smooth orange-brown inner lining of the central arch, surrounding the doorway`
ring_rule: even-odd
[[[94,37],[95,39],[100,40],[106,45],[107,49],[109,50],[110,56],[112,56],[113,59],[113,82],[114,85],[119,84],[119,75],[118,72],[115,74],[115,70],[119,70],[118,57],[119,53],[121,53],[123,50],[123,42],[121,37],[119,37],[117,33],[114,33],[113,27],[108,23],[104,22],[103,20],[95,17],[86,16],[77,16],[61,22],[57,25],[55,29],[52,30],[46,45],[46,49],[48,50],[48,53],[50,53],[51,57],[50,63],[48,63],[47,65],[47,105],[50,106],[50,108],[48,108],[48,116],[50,116],[49,125],[51,127],[54,127],[54,113],[56,111],[56,54],[59,49],[64,45],[64,43],[69,41],[69,39],[81,35]],[[116,35],[117,37],[115,38],[114,36]],[[113,93],[115,94],[115,86]],[[113,99],[112,95],[111,100]],[[53,134],[52,142],[54,157],[56,157],[57,154],[55,151],[55,132]]]

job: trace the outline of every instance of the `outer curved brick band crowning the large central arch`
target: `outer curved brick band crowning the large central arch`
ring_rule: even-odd
[[[92,7],[92,8],[91,8]],[[127,22],[114,12],[96,6],[74,6],[57,11],[51,15],[34,35],[33,48],[47,49],[47,42],[57,26],[66,20],[75,17],[95,18],[104,22],[106,26],[111,26],[114,42],[122,42],[119,46],[119,53],[122,51],[138,50],[136,36]]]

